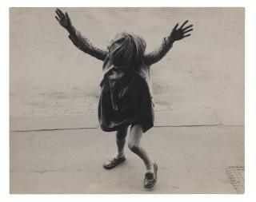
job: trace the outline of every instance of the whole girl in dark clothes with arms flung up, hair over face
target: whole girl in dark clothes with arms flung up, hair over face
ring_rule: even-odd
[[[103,167],[114,168],[126,160],[124,146],[130,125],[129,149],[146,165],[144,188],[153,188],[157,182],[158,165],[140,145],[142,134],[154,126],[154,102],[150,65],[160,61],[175,41],[190,36],[193,25],[174,26],[162,45],[152,53],[145,53],[146,42],[135,34],[121,33],[107,47],[99,50],[72,26],[69,15],[56,10],[59,24],[69,32],[69,38],[78,49],[103,62],[104,77],[100,83],[101,96],[98,103],[98,120],[103,131],[117,131],[118,152],[106,160]]]

